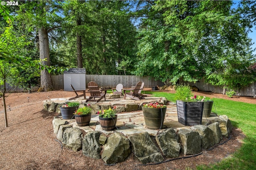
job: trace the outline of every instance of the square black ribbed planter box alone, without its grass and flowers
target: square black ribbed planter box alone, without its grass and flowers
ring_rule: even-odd
[[[185,126],[201,125],[204,102],[176,101],[178,121]]]

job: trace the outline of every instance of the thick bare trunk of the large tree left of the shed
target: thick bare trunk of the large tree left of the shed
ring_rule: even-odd
[[[40,59],[47,59],[47,61],[41,61],[43,65],[50,66],[50,53],[49,53],[49,39],[47,30],[41,26],[38,28],[39,36],[39,54]],[[54,87],[52,85],[52,77],[46,69],[41,70],[41,90],[52,91]]]

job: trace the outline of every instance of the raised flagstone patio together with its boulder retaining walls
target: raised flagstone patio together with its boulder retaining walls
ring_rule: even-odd
[[[229,137],[232,125],[226,115],[214,115],[202,121],[203,125],[180,126],[172,103],[167,107],[168,120],[164,121],[164,129],[151,130],[144,125],[142,111],[143,102],[161,102],[166,104],[166,98],[148,97],[149,100],[113,99],[99,103],[90,103],[92,118],[89,126],[79,127],[74,119],[64,120],[54,117],[52,124],[56,138],[74,151],[82,150],[84,156],[102,159],[106,164],[122,162],[130,154],[134,154],[142,164],[161,162],[166,158],[176,158],[183,155],[198,154],[202,150],[218,145],[222,137]],[[67,102],[66,98],[44,101],[44,109],[60,113],[60,106]],[[80,107],[84,107],[84,100]],[[136,103],[137,102],[137,103]],[[117,129],[103,131],[95,113],[100,109],[116,106],[118,113]],[[172,108],[170,108],[172,106]],[[132,117],[131,117],[132,116]],[[166,119],[166,117],[165,117]],[[176,119],[176,120],[175,120]],[[134,122],[136,120],[136,123]],[[173,124],[172,124],[173,122]],[[204,123],[203,123],[204,122]],[[179,126],[175,126],[175,125]],[[171,128],[170,128],[171,127]],[[175,127],[175,128],[174,128]],[[85,134],[85,135],[84,135]]]

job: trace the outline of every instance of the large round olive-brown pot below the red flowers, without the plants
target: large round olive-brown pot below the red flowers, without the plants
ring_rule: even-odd
[[[166,113],[165,108],[148,108],[142,107],[144,120],[148,129],[162,129],[164,124],[164,117]]]

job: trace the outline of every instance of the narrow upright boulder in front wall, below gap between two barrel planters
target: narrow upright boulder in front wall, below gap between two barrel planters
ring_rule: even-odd
[[[82,142],[82,152],[85,156],[100,159],[100,136],[102,134],[99,131],[92,131],[84,135]]]

